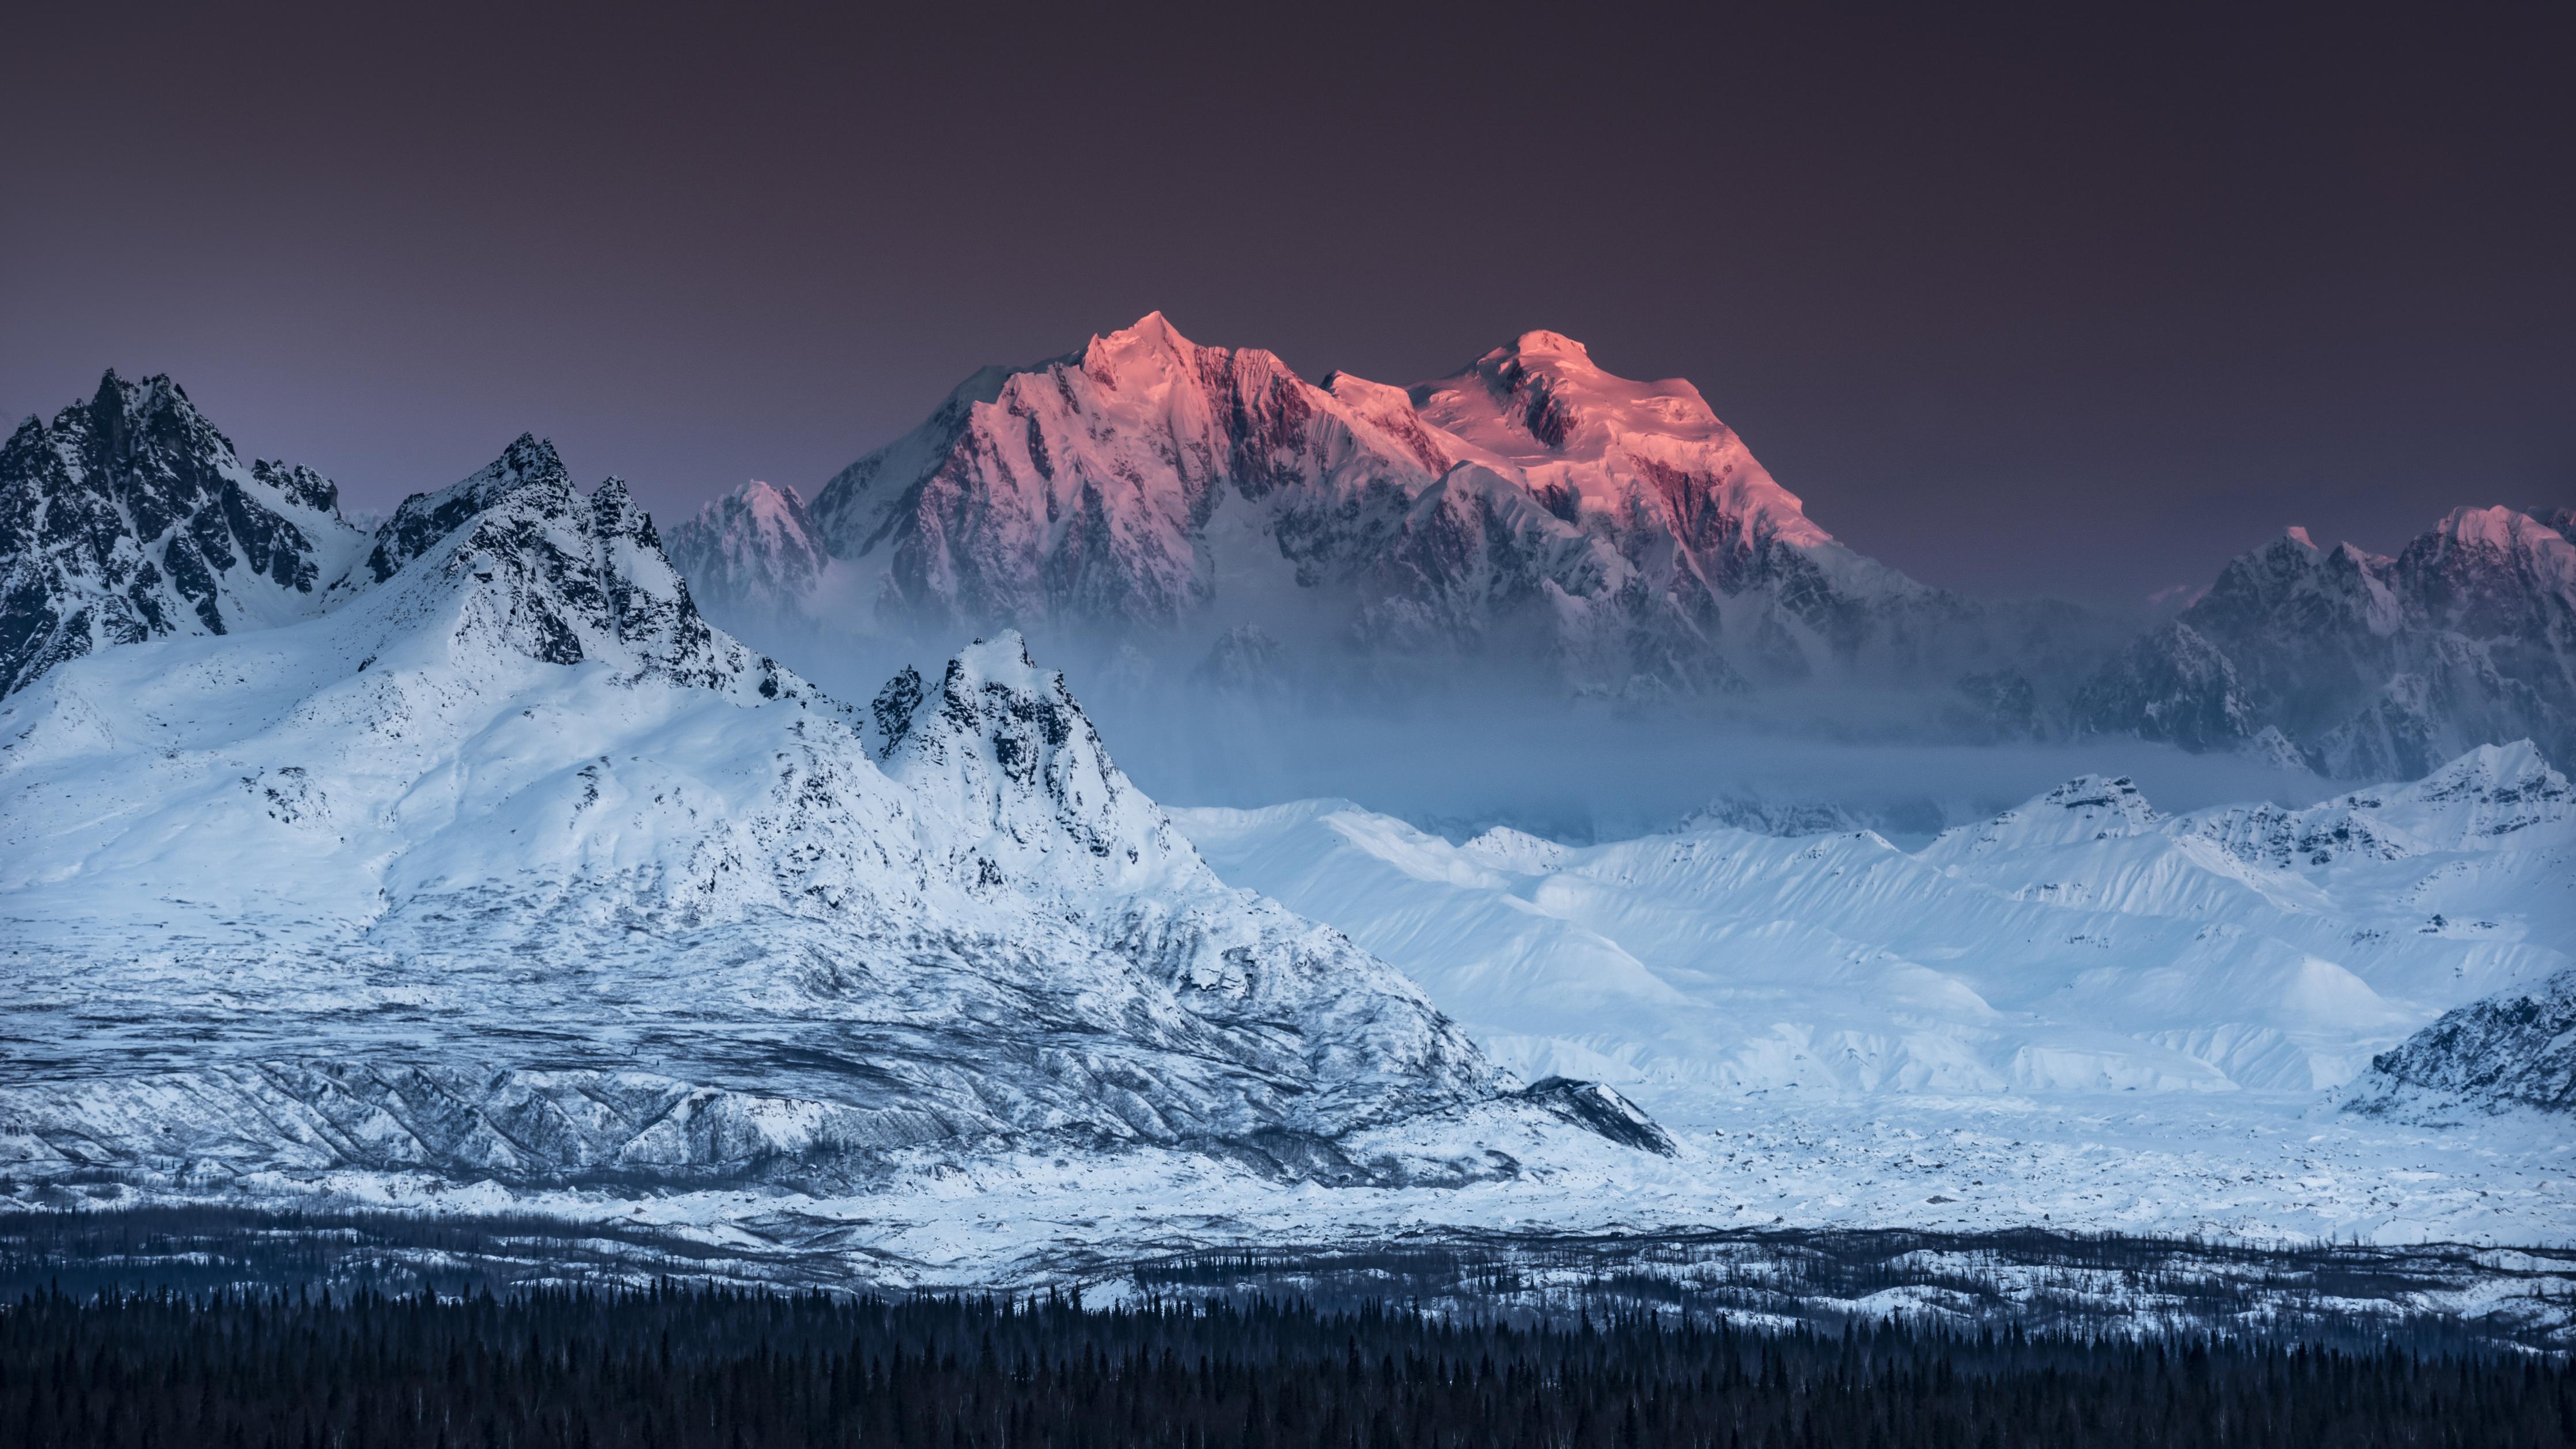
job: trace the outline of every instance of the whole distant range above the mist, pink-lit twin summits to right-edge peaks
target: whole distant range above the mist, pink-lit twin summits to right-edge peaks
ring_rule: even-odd
[[[1945,737],[2141,735],[2391,779],[2481,743],[2576,753],[2568,518],[2463,508],[2393,559],[2293,529],[2136,634],[1855,554],[1687,382],[1618,379],[1556,333],[1399,389],[1309,384],[1151,315],[976,374],[811,508],[719,498],[672,557],[755,634],[1020,627],[1236,688],[1517,678],[1739,709],[1862,688]]]

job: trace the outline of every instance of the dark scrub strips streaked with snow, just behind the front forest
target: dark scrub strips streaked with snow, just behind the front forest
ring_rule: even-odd
[[[392,1294],[600,1289],[672,1276],[770,1292],[868,1292],[886,1266],[827,1225],[755,1250],[621,1222],[131,1207],[0,1209],[0,1305],[62,1287],[90,1297],[232,1284],[371,1287]],[[1512,1323],[1654,1312],[1669,1320],[1808,1323],[1839,1330],[1855,1299],[1937,1302],[1968,1330],[2050,1336],[2210,1330],[2378,1351],[2576,1348],[2576,1253],[2496,1261],[2458,1243],[2244,1245],[2192,1238],[1924,1230],[1726,1230],[1672,1235],[1486,1232],[1404,1243],[1278,1243],[1177,1253],[1115,1271],[1167,1299],[1293,1297],[1324,1310],[1406,1302]],[[1883,1294],[1883,1297],[1880,1297]],[[2470,1312],[2445,1305],[2473,1305]]]

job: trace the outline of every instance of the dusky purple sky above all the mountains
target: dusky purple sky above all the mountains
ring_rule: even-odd
[[[2576,503],[2563,0],[219,10],[10,18],[10,418],[170,371],[358,505],[526,428],[670,518],[1159,307],[1381,382],[1569,333],[1978,593]]]

